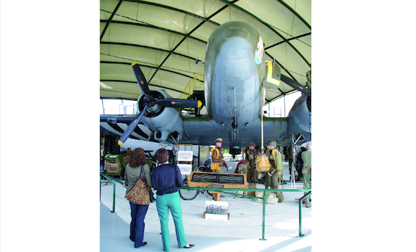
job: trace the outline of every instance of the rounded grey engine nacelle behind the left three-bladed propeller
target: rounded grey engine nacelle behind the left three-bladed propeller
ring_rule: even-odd
[[[154,99],[172,98],[161,89],[151,89],[150,96]],[[144,99],[145,95],[142,94],[137,102],[138,111],[142,111],[142,109],[145,108]],[[147,108],[147,112],[143,116],[142,122],[154,132],[154,139],[157,141],[166,141],[171,133],[173,133],[173,137],[177,137],[179,140],[182,139],[183,120],[176,108],[167,108],[156,104]]]

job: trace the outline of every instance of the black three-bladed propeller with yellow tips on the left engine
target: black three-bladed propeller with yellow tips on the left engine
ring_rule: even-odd
[[[142,70],[140,69],[139,64],[137,62],[133,62],[131,64],[133,68],[133,73],[135,74],[137,84],[139,84],[142,93],[145,94],[143,101],[145,101],[145,108],[137,115],[133,122],[130,122],[126,131],[121,135],[120,139],[118,140],[118,145],[124,144],[126,139],[130,136],[130,134],[135,130],[139,122],[142,120],[143,115],[147,111],[147,108],[151,108],[154,105],[159,105],[161,107],[169,107],[169,108],[200,108],[202,106],[202,102],[198,100],[188,100],[188,99],[155,99],[154,97],[150,96],[149,85],[147,84],[147,80],[145,75],[143,75]]]

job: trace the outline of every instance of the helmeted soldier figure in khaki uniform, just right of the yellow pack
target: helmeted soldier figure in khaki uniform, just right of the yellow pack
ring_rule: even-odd
[[[274,156],[271,151],[274,151],[276,160],[274,160]],[[270,186],[270,189],[279,189],[279,177],[281,177],[281,175],[277,175],[277,172],[281,172],[281,174],[283,173],[281,153],[277,149],[268,149],[266,151],[266,155],[269,157],[270,162],[270,170],[266,175],[267,184]],[[277,199],[279,199],[279,202],[283,202],[283,199],[285,198],[283,197],[281,191],[275,191],[274,193],[276,194]]]

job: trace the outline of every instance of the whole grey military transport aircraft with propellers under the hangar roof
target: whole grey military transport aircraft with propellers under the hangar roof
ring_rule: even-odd
[[[278,65],[264,62],[263,46],[259,32],[247,23],[230,21],[217,27],[207,44],[204,94],[194,92],[188,99],[172,99],[162,89],[149,89],[139,65],[133,63],[142,90],[138,115],[101,115],[101,132],[121,136],[120,145],[128,137],[147,137],[209,146],[221,137],[223,148],[228,147],[232,155],[250,141],[257,146],[271,139],[283,146],[310,141],[310,85],[306,88],[281,75]],[[277,89],[281,81],[303,94],[288,118],[263,117],[264,88]],[[207,108],[205,115],[200,114],[202,106]],[[193,115],[183,115],[185,108],[193,108]]]

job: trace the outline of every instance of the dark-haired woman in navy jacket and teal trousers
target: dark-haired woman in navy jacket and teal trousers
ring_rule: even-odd
[[[188,244],[182,224],[182,206],[179,196],[179,187],[183,184],[181,170],[178,165],[171,165],[168,162],[169,153],[166,149],[159,149],[154,154],[159,165],[152,171],[152,185],[157,189],[156,207],[159,214],[161,227],[161,241],[164,251],[171,249],[171,239],[169,236],[169,210],[171,210],[173,222],[175,223],[176,239],[179,248],[192,248],[195,244]]]

